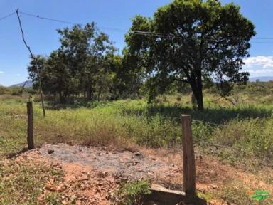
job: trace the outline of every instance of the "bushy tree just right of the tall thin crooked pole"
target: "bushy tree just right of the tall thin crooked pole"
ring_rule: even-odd
[[[38,67],[45,93],[58,94],[60,102],[71,95],[88,100],[100,100],[112,86],[112,56],[116,48],[109,36],[97,31],[95,23],[73,28],[58,29],[60,47],[50,56],[38,56]],[[31,61],[30,78],[36,81],[37,73]]]

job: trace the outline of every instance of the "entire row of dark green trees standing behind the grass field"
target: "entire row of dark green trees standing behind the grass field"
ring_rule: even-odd
[[[60,47],[37,57],[44,92],[58,95],[61,103],[72,96],[136,97],[140,91],[152,102],[156,95],[186,85],[198,110],[204,109],[207,85],[216,84],[219,94],[228,96],[235,84],[247,83],[243,59],[250,56],[250,39],[256,35],[239,6],[217,0],[174,0],[153,17],[135,16],[122,56],[95,23],[58,33]],[[37,81],[33,65],[28,71]]]

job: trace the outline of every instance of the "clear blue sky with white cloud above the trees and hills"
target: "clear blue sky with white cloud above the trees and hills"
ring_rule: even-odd
[[[0,0],[0,17],[16,8],[30,14],[75,23],[95,21],[101,31],[109,34],[115,46],[122,50],[124,34],[131,26],[130,18],[137,14],[152,16],[159,6],[170,0]],[[223,0],[223,4],[231,2]],[[251,57],[245,59],[245,70],[251,77],[273,75],[273,1],[235,0],[241,12],[256,26],[257,38],[253,39]],[[31,16],[21,16],[26,40],[35,54],[49,54],[58,48],[57,28],[71,26],[45,21]],[[29,53],[23,45],[16,15],[0,21],[0,84],[12,85],[28,78]],[[107,27],[107,28],[105,28]],[[117,28],[117,30],[113,29]]]

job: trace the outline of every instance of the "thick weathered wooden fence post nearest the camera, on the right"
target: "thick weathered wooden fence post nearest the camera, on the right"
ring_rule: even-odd
[[[183,191],[196,195],[196,162],[191,135],[191,115],[181,115],[183,143]]]

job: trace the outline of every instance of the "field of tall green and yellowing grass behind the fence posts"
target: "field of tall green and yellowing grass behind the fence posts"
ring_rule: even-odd
[[[219,99],[211,90],[205,90],[203,112],[193,108],[191,95],[181,93],[161,95],[152,105],[141,99],[93,102],[90,107],[60,109],[48,106],[45,119],[39,102],[34,102],[36,146],[64,142],[96,146],[179,147],[180,115],[190,114],[197,149],[255,173],[272,166],[272,90],[272,83],[250,83],[247,88],[235,88],[228,99],[236,105],[224,98]],[[2,157],[26,147],[26,101],[27,98],[0,95]],[[0,169],[1,174],[9,172]],[[0,189],[11,186],[6,183],[1,182]],[[4,193],[9,194],[9,191]]]

